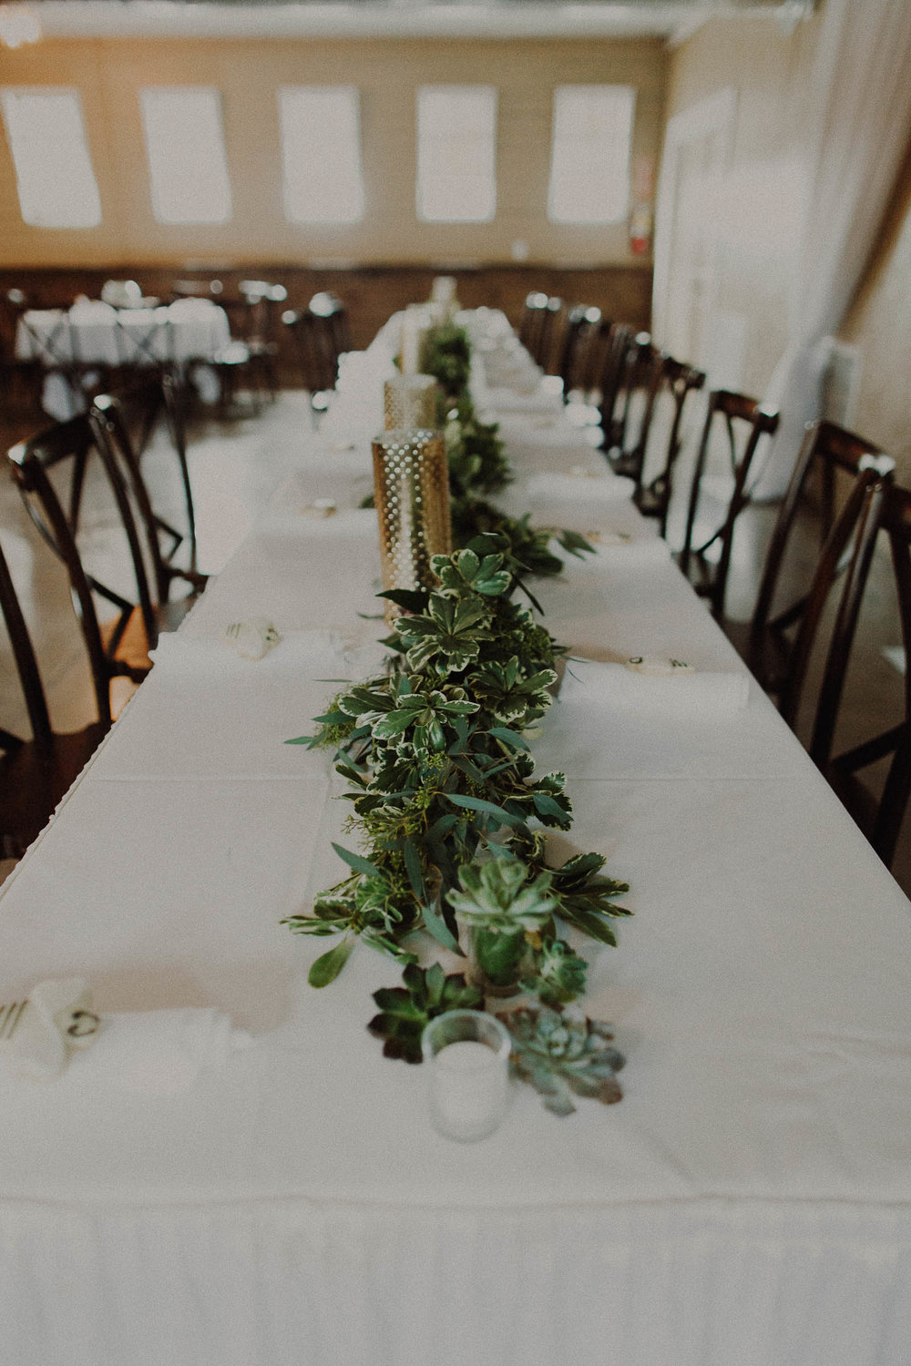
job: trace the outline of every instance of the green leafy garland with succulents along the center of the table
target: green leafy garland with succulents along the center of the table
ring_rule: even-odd
[[[616,944],[612,921],[630,912],[615,899],[628,888],[602,874],[600,854],[550,865],[534,828],[570,829],[572,805],[564,775],[535,776],[529,753],[564,650],[534,620],[527,579],[561,571],[552,540],[575,555],[591,546],[483,499],[509,470],[496,425],[478,421],[468,396],[467,333],[438,328],[423,366],[444,392],[460,548],[433,559],[436,587],[381,594],[406,613],[382,642],[388,672],[339,693],[314,735],[288,742],[335,751],[362,852],[333,844],[350,874],[316,897],[311,914],[283,923],[340,936],[313,963],[311,986],[332,982],[358,940],[403,964],[403,985],[374,993],[380,1012],[369,1024],[388,1057],[419,1063],[421,1031],[443,1011],[531,997],[531,1008],[500,1016],[514,1037],[514,1071],[565,1115],[570,1091],[619,1100],[623,1059],[606,1026],[571,1007],[587,964],[559,926]],[[474,979],[447,977],[440,964],[419,968],[421,932],[462,956],[459,937],[468,936]]]

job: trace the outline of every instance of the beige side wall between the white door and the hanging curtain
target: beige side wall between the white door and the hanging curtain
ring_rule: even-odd
[[[675,51],[668,117],[731,87],[731,164],[717,202],[717,307],[746,329],[742,387],[762,395],[785,348],[813,153],[807,128],[818,18],[785,37],[766,18],[713,19]],[[709,376],[709,382],[712,377]]]

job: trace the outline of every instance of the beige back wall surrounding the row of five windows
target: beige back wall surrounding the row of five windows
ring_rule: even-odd
[[[22,223],[0,138],[0,265],[231,261],[531,261],[616,264],[630,255],[626,224],[563,227],[546,220],[552,89],[560,83],[636,86],[634,157],[657,157],[667,57],[658,41],[46,41],[3,52],[3,85],[74,85],[82,92],[101,191],[98,228]],[[276,87],[352,83],[361,89],[366,217],[302,227],[281,212]],[[414,90],[422,83],[499,87],[497,216],[489,224],[426,224],[414,212]],[[234,193],[225,225],[167,227],[152,217],[137,89],[213,85],[223,93]]]

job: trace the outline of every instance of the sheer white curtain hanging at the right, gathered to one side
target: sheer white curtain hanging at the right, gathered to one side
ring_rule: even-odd
[[[851,302],[911,131],[911,0],[826,0],[813,89],[818,161],[809,191],[789,340],[765,393],[781,425],[755,490],[784,492],[819,413],[822,339]]]

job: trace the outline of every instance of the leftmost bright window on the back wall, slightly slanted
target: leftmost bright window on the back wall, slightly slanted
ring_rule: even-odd
[[[101,199],[79,92],[7,86],[0,100],[23,221],[36,228],[96,228]]]

